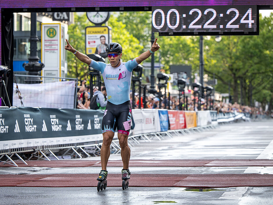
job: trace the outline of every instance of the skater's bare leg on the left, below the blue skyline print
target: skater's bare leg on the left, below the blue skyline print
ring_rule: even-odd
[[[100,148],[101,170],[107,170],[107,162],[110,156],[110,145],[114,138],[114,132],[108,131],[103,133],[103,144]]]

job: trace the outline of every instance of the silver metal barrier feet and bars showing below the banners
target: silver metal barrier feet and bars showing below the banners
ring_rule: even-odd
[[[204,125],[200,127],[193,127],[187,129],[180,130],[168,130],[166,132],[152,132],[145,134],[137,134],[131,135],[128,137],[128,145],[129,147],[134,147],[135,145],[140,144],[141,142],[151,142],[153,139],[163,140],[167,138],[173,138],[174,136],[187,135],[187,134],[195,134],[203,131],[213,130],[217,127],[217,124]],[[71,158],[82,158],[82,157],[92,157],[92,156],[100,156],[100,148],[102,142],[85,142],[85,143],[72,143],[72,144],[61,144],[61,145],[47,145],[47,146],[38,146],[37,148],[16,148],[16,149],[8,149],[8,150],[0,150],[0,162],[3,164],[10,164],[14,166],[18,166],[16,161],[20,160],[24,164],[27,165],[28,160],[36,158],[36,160],[48,160],[51,161],[51,157],[60,160],[60,157],[64,159],[64,156],[70,156]],[[119,146],[118,139],[113,140],[111,145],[111,154],[118,154],[121,152],[121,148]],[[61,156],[57,156],[55,153],[58,150],[65,150]],[[55,152],[54,152],[55,151]],[[19,153],[31,152],[31,156],[28,159],[23,159],[19,156]],[[6,156],[5,161],[1,161],[1,159]],[[18,159],[12,159],[12,157],[17,157]]]

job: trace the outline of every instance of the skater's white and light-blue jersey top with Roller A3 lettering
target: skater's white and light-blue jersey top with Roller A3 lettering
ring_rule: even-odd
[[[112,67],[110,64],[96,62],[94,60],[92,60],[89,66],[101,72],[108,101],[115,105],[119,105],[130,100],[129,91],[131,87],[132,71],[137,65],[137,60],[134,58],[126,63],[121,63],[118,67]]]

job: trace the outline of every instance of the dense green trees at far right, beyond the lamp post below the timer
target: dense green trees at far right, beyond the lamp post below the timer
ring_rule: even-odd
[[[218,78],[220,92],[227,92],[230,85],[235,102],[252,105],[253,100],[266,103],[272,98],[271,22],[272,16],[260,16],[257,36],[222,36],[219,43],[205,40],[205,73]]]

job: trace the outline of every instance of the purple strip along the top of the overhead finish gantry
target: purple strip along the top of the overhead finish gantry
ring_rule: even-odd
[[[128,7],[128,6],[211,6],[211,5],[272,5],[272,0],[176,0],[123,1],[112,0],[1,0],[0,8],[61,8],[61,7]]]

